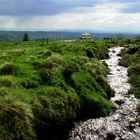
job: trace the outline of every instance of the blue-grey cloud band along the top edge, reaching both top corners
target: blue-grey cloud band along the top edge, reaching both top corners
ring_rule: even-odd
[[[40,16],[72,12],[75,8],[91,7],[108,2],[127,5],[120,12],[140,12],[140,0],[0,0],[0,16]]]

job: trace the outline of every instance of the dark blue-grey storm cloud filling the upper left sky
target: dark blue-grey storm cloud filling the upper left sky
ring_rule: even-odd
[[[70,12],[76,7],[96,5],[100,0],[0,0],[0,15],[33,16]]]

